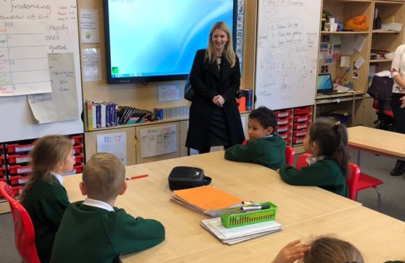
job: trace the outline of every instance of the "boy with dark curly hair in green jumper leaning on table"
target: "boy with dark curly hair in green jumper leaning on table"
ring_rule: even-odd
[[[270,169],[285,163],[285,141],[275,132],[277,118],[264,106],[253,110],[247,122],[249,140],[225,150],[224,157],[236,162],[252,162]]]

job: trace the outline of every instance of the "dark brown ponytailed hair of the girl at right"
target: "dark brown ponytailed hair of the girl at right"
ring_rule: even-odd
[[[309,127],[309,140],[318,145],[319,156],[333,158],[344,176],[348,175],[350,152],[347,148],[347,130],[343,124],[315,122]]]

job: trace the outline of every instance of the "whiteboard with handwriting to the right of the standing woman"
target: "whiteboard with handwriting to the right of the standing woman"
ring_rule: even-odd
[[[255,108],[314,104],[321,0],[259,0]]]

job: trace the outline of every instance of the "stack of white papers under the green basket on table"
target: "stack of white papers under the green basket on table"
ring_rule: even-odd
[[[276,221],[226,228],[222,225],[220,217],[205,219],[201,221],[201,226],[224,244],[237,244],[282,230]]]

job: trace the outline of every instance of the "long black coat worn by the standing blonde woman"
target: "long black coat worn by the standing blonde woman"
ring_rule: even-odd
[[[233,68],[225,57],[221,61],[221,72],[217,64],[205,60],[205,49],[197,51],[190,72],[190,84],[196,96],[190,106],[186,147],[200,150],[211,146],[209,124],[215,107],[214,96],[221,94],[225,100],[223,111],[229,127],[231,145],[244,140],[241,115],[236,104],[235,94],[241,85],[239,59]]]

